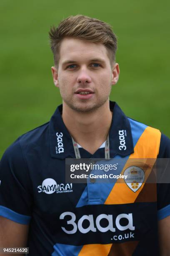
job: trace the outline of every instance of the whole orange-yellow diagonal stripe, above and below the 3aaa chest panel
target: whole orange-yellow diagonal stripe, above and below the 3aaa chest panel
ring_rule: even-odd
[[[140,136],[135,148],[134,153],[130,155],[128,162],[125,164],[121,174],[123,175],[125,169],[129,166],[138,164],[140,159],[140,164],[148,164],[153,166],[155,158],[158,156],[160,144],[160,131],[151,127],[147,127],[143,134]],[[150,159],[149,159],[150,158]],[[148,179],[148,176],[152,168],[148,168],[145,172],[145,181]],[[107,197],[105,204],[126,204],[135,202],[136,197],[138,197],[140,191],[142,190],[144,184],[136,191],[135,193],[124,183],[116,183],[113,187],[110,195]],[[95,236],[95,234],[94,234]],[[78,254],[79,256],[105,256],[108,255],[112,244],[89,244],[84,245]]]

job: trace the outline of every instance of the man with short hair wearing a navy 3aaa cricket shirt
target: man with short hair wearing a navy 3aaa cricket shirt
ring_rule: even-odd
[[[77,15],[51,28],[50,40],[63,104],[2,157],[0,247],[29,246],[32,256],[155,256],[159,237],[161,255],[170,255],[169,184],[65,182],[67,158],[116,158],[123,174],[129,159],[170,157],[166,136],[109,102],[119,78],[115,34]]]

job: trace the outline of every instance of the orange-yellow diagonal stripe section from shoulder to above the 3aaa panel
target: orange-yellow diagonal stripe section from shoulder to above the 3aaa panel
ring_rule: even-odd
[[[145,181],[148,179],[148,176],[152,170],[152,166],[155,163],[155,159],[159,153],[159,145],[160,145],[160,131],[147,127],[143,134],[140,136],[136,146],[134,148],[134,153],[130,155],[127,163],[125,164],[121,174],[123,175],[125,169],[129,166],[137,165],[138,162],[136,159],[140,160],[140,164],[143,165],[150,165],[151,168],[148,168],[145,171]],[[112,188],[110,195],[107,197],[105,204],[112,205],[112,204],[128,204],[135,202],[135,199],[138,197],[140,191],[143,189],[145,182],[143,182],[140,189],[136,192],[133,192],[128,185],[118,180],[115,186]]]

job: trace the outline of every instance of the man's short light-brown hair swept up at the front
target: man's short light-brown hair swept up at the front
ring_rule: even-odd
[[[51,27],[50,45],[57,66],[60,59],[60,44],[64,38],[78,38],[91,43],[104,44],[108,51],[110,62],[115,61],[117,38],[111,26],[101,20],[84,15],[70,16],[62,20],[58,27]]]

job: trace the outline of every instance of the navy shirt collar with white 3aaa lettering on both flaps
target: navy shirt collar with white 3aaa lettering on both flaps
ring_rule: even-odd
[[[128,156],[134,152],[130,122],[115,102],[110,101],[110,110],[113,112],[109,132],[110,157],[113,158],[117,154]],[[57,159],[75,158],[72,138],[61,115],[62,105],[58,106],[49,123],[51,156]]]

